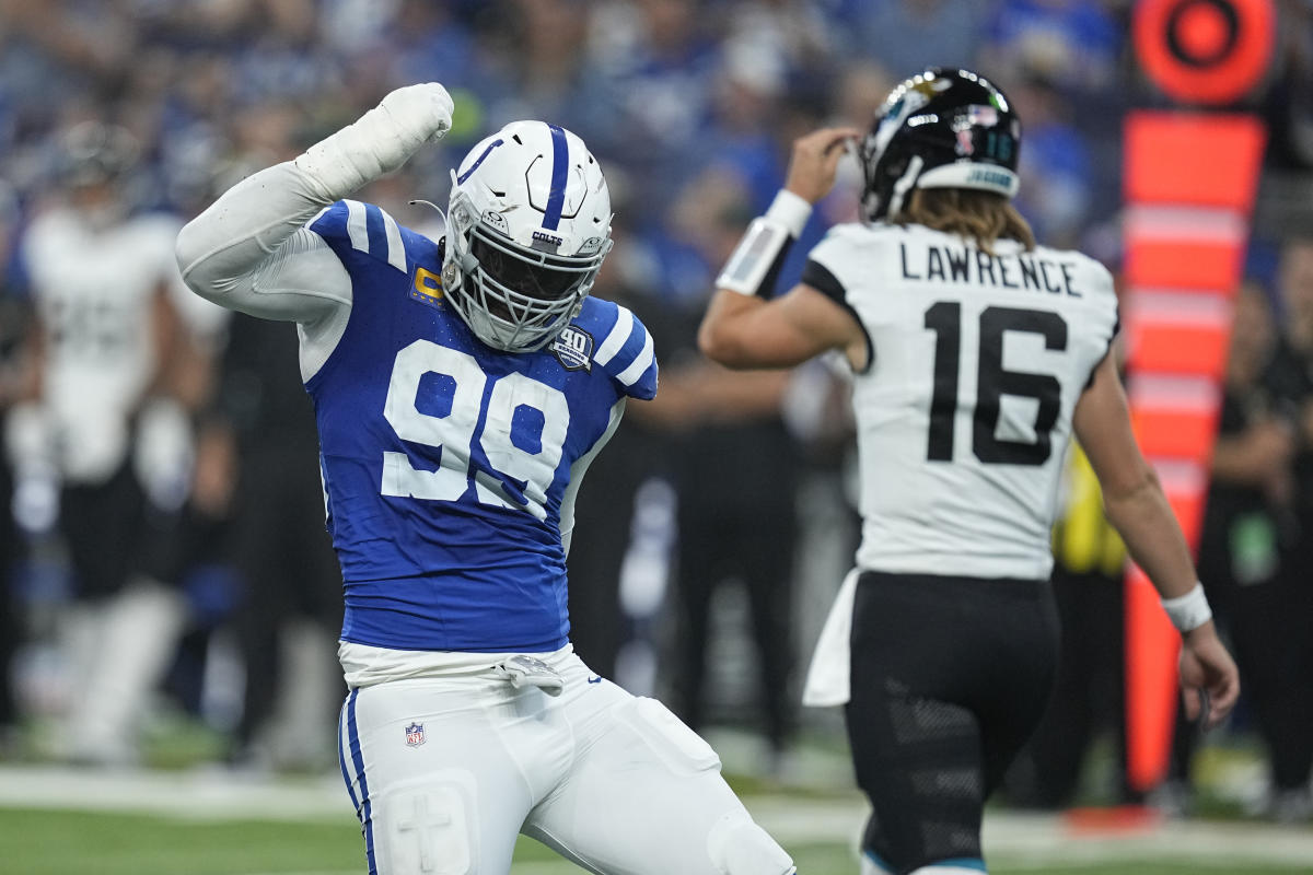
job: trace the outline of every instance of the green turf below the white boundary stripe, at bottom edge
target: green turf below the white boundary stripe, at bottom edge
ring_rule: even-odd
[[[1155,851],[1152,861],[1128,854],[1062,862],[1062,853],[1019,854],[991,861],[995,875],[1292,875],[1302,866],[1243,859],[1194,859],[1188,847],[1174,862]],[[856,872],[844,844],[789,844],[801,875]],[[146,815],[85,813],[0,808],[0,871],[12,875],[360,875],[362,845],[349,820],[193,821]],[[536,842],[521,840],[513,875],[567,875],[580,870]]]

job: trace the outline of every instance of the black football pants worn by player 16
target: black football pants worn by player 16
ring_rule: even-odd
[[[1057,669],[1048,581],[865,572],[847,706],[863,851],[899,875],[979,865],[981,815],[1033,732]]]

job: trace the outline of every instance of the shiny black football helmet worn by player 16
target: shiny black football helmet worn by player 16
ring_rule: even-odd
[[[1020,143],[1020,119],[987,79],[969,70],[920,72],[889,93],[863,139],[863,209],[872,222],[895,220],[914,189],[1015,197]]]

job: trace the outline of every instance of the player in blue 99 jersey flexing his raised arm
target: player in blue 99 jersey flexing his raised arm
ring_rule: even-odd
[[[524,833],[592,872],[793,872],[706,743],[570,645],[574,496],[625,401],[656,392],[642,323],[588,296],[611,248],[597,161],[507,125],[453,171],[441,240],[343,199],[450,121],[440,85],[398,89],[177,244],[202,296],[297,323],[369,871],[504,874]]]

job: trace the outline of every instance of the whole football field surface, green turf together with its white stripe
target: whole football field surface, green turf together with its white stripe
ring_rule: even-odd
[[[733,745],[723,745],[733,748]],[[807,761],[815,774],[822,761]],[[838,778],[781,787],[735,778],[800,875],[857,875],[865,802]],[[1094,808],[1074,819],[1001,807],[985,817],[991,875],[1313,875],[1313,824],[1276,826],[1234,805],[1190,820]],[[243,773],[0,763],[0,875],[362,875],[364,842],[336,770]],[[521,840],[512,875],[582,870]],[[678,875],[678,874],[671,874]]]

